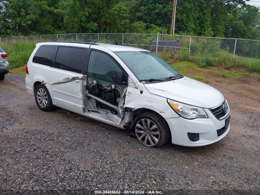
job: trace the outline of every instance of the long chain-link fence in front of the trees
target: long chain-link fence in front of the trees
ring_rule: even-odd
[[[84,41],[98,43],[108,43],[116,41],[119,45],[128,45],[153,51],[170,52],[173,55],[182,53],[190,56],[210,56],[232,55],[233,58],[260,59],[260,41],[247,39],[228,39],[211,37],[194,37],[180,35],[160,35],[160,34],[109,34],[109,33],[79,33],[63,35],[35,35],[24,37],[0,37],[0,42],[9,41],[34,41],[46,42],[56,39],[71,39],[68,41]],[[62,40],[61,40],[62,41]]]

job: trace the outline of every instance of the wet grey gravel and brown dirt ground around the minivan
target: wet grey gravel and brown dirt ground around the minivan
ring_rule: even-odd
[[[258,87],[252,86],[259,89],[254,91],[256,98],[247,101],[258,104],[256,110],[244,109],[240,97],[212,83],[232,99],[231,130],[217,143],[195,148],[171,143],[148,148],[126,130],[61,108],[43,112],[24,80],[25,76],[8,74],[0,82],[1,194],[84,194],[96,189],[260,193],[257,78]],[[252,90],[244,87],[244,93]]]

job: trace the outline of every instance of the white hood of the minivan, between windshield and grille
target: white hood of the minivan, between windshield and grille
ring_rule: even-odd
[[[225,100],[217,89],[188,77],[145,84],[145,87],[151,94],[202,108],[213,108]]]

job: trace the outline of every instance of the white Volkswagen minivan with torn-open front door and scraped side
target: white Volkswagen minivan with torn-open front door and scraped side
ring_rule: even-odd
[[[230,130],[230,109],[213,87],[179,74],[154,53],[117,44],[36,44],[26,88],[43,111],[58,106],[129,129],[145,146],[203,146]]]

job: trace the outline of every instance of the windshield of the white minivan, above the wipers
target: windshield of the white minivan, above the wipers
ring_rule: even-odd
[[[148,51],[114,52],[139,80],[182,76],[163,59]]]

